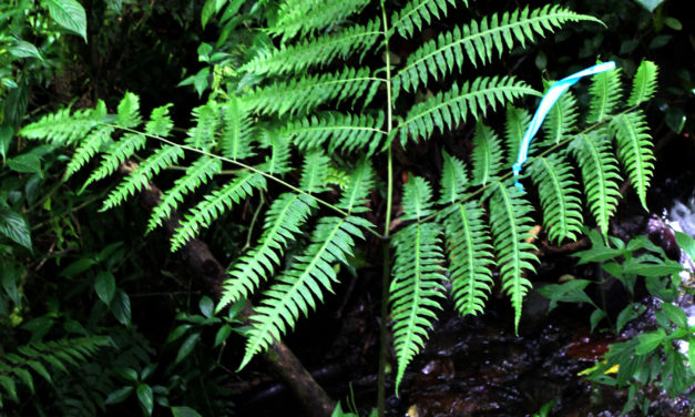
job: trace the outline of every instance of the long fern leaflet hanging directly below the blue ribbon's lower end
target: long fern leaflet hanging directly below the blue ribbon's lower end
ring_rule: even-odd
[[[514,332],[519,330],[523,297],[531,288],[531,282],[524,276],[534,272],[538,257],[535,246],[527,242],[533,237],[533,221],[529,217],[531,204],[524,199],[524,192],[501,182],[493,185],[490,196],[490,228],[497,253],[498,268],[502,279],[502,291],[510,296],[514,308]]]

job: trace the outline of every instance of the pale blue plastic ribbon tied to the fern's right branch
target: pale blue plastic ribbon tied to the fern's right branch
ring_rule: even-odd
[[[533,140],[535,133],[538,133],[538,130],[541,129],[541,123],[543,123],[543,120],[548,115],[548,112],[550,112],[550,109],[552,109],[553,104],[555,104],[560,96],[564,94],[564,92],[568,91],[570,87],[574,85],[581,78],[586,75],[594,75],[604,71],[610,71],[614,68],[615,62],[613,61],[599,63],[580,72],[575,72],[570,77],[565,77],[562,80],[554,82],[550,87],[550,89],[548,89],[548,92],[545,93],[545,95],[543,95],[543,99],[541,99],[541,103],[535,110],[535,114],[533,114],[533,119],[531,119],[531,124],[529,124],[527,133],[524,133],[523,139],[521,140],[519,159],[517,160],[517,163],[512,165],[512,172],[514,173],[514,177],[519,177],[519,175],[521,174],[521,166],[524,162],[527,162],[527,159],[529,157],[529,146],[531,145],[531,140]],[[521,185],[519,180],[514,182],[514,185],[523,190],[523,185]]]

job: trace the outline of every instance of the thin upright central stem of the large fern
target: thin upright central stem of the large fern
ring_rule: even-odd
[[[391,95],[391,57],[389,55],[389,28],[386,19],[386,7],[381,0],[381,20],[384,22],[384,52],[386,54],[386,126],[387,138],[391,138],[394,129],[394,103]],[[391,143],[387,144],[387,191],[386,191],[386,221],[384,224],[384,235],[381,245],[384,247],[382,275],[381,275],[381,323],[379,327],[379,377],[377,382],[377,413],[384,417],[386,413],[386,362],[387,362],[387,323],[388,323],[388,301],[389,301],[389,276],[391,264],[390,248],[390,225],[391,211],[394,205],[394,155]]]

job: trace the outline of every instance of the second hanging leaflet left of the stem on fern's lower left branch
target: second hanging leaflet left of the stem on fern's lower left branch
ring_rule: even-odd
[[[217,311],[245,298],[267,279],[287,245],[296,241],[316,202],[304,194],[285,193],[268,210],[258,245],[244,254],[229,271]]]

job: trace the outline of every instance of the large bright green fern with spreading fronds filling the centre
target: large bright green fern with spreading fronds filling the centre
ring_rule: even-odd
[[[222,14],[238,9],[214,6]],[[553,243],[574,241],[587,223],[605,237],[623,179],[646,206],[654,156],[640,105],[656,90],[650,61],[627,85],[620,69],[595,75],[586,109],[571,93],[554,105],[522,179],[538,201],[511,179],[530,120],[518,104],[542,92],[513,75],[489,75],[492,64],[566,24],[601,24],[597,19],[551,4],[478,17],[468,0],[257,6],[265,7],[253,22],[258,37],[239,62],[228,63],[224,90],[193,110],[185,134],[173,130],[171,104],[144,120],[134,93],[115,111],[104,102],[63,109],[21,131],[74,146],[65,177],[89,167],[82,189],[127,171],[104,210],[132,200],[163,170],[184,167],[147,224],[152,231],[182,213],[172,251],[244,201],[263,202],[258,237],[231,260],[216,305],[219,312],[257,301],[239,367],[316,309],[340,279],[335,265],[350,264],[359,242],[374,237],[385,247],[398,391],[447,281],[457,312],[478,315],[497,272],[517,328],[538,263],[534,217]],[[426,27],[443,23],[450,29],[422,40]],[[398,57],[398,42],[417,48]],[[500,109],[505,122],[491,126]],[[444,145],[451,135],[468,142],[458,138],[467,126],[471,152]],[[435,143],[441,169],[422,167],[431,175],[401,181],[396,152],[422,142]]]

